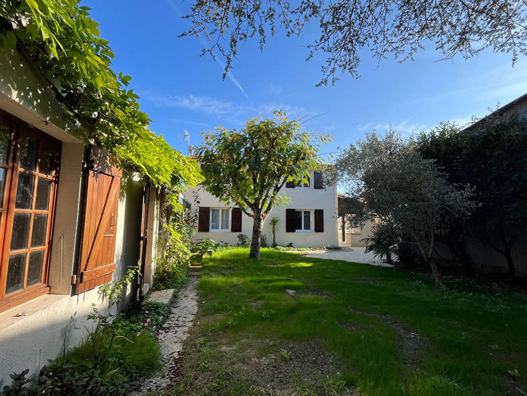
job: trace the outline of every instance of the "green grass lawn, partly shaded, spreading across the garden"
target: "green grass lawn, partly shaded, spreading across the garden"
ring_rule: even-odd
[[[262,249],[203,263],[167,395],[526,395],[527,298]]]

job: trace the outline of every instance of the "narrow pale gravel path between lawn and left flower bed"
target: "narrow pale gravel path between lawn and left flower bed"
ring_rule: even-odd
[[[159,333],[157,337],[161,347],[163,368],[154,377],[143,380],[139,389],[131,392],[130,396],[141,396],[147,392],[160,391],[178,378],[179,353],[198,311],[199,277],[200,274],[197,272],[190,272],[189,281],[173,300],[171,313],[161,327],[162,333]]]

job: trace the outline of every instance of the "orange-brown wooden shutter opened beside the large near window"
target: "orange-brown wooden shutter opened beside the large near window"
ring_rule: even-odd
[[[87,172],[77,293],[112,280],[121,171]]]

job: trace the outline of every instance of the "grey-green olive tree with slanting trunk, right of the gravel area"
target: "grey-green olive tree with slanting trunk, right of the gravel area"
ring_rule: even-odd
[[[424,159],[412,140],[388,131],[384,137],[366,134],[337,157],[331,178],[346,188],[355,202],[354,221],[396,224],[409,235],[430,265],[435,284],[442,286],[434,259],[436,235],[448,218],[467,215],[474,204],[472,188],[447,182],[433,161]]]

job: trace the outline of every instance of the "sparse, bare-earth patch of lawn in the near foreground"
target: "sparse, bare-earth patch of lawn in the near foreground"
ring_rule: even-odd
[[[184,375],[171,395],[362,394],[338,380],[343,363],[336,362],[321,340],[287,342],[221,332],[211,334],[200,347],[188,341],[182,355]]]

